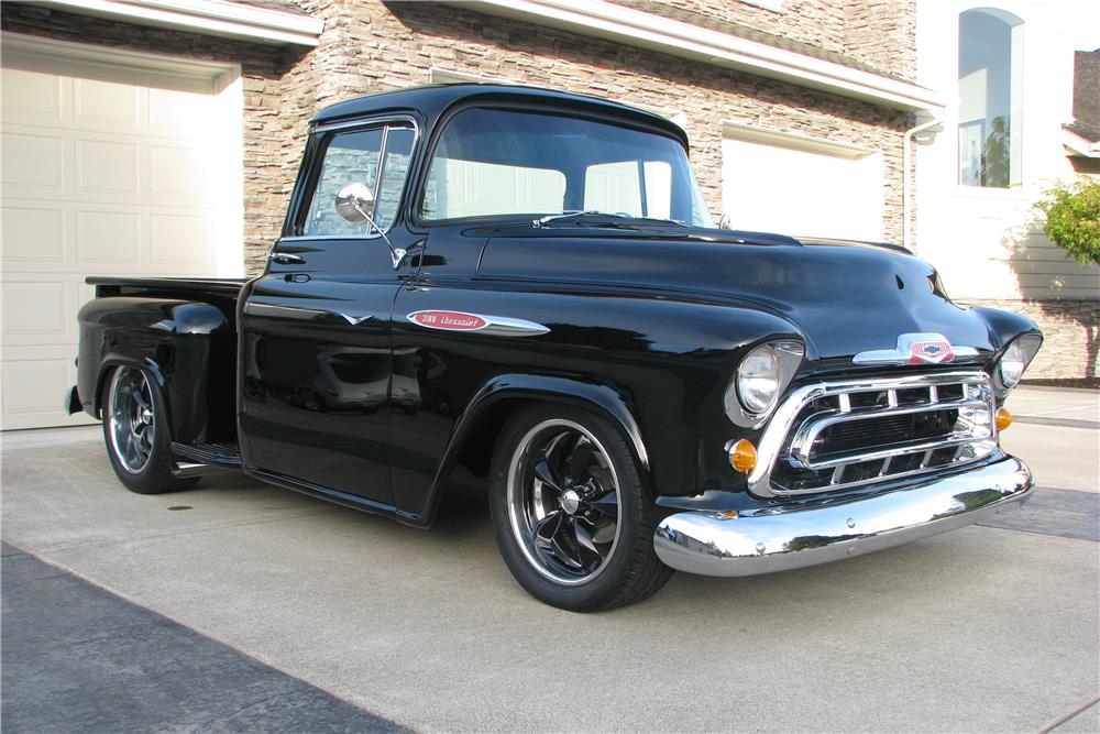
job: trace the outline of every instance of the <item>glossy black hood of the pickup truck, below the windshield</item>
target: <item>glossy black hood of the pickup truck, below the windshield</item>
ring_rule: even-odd
[[[645,289],[760,308],[792,324],[811,359],[894,349],[906,333],[939,333],[977,349],[967,361],[983,361],[1000,347],[979,313],[947,298],[928,263],[895,245],[686,229],[479,233],[488,235],[481,278]]]

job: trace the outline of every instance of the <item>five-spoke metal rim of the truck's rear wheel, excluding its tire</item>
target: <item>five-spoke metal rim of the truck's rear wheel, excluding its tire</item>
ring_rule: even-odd
[[[114,371],[108,388],[107,420],[118,465],[131,474],[140,473],[148,464],[156,437],[153,390],[143,371]]]

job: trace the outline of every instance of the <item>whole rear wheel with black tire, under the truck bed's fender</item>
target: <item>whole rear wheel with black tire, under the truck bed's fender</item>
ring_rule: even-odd
[[[168,440],[164,396],[145,370],[116,368],[103,381],[100,405],[107,457],[128,490],[163,494],[195,485],[198,478],[178,479],[172,473],[176,457]]]

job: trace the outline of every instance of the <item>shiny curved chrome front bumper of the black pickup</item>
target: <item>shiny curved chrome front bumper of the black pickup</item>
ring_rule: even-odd
[[[736,517],[670,515],[653,547],[666,565],[704,576],[787,571],[898,546],[977,523],[1031,495],[1013,457],[952,476],[838,504],[777,505]]]

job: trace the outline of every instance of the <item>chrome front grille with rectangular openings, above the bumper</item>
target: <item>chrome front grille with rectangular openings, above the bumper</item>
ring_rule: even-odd
[[[983,372],[827,382],[777,409],[749,475],[757,494],[833,492],[931,472],[997,449]]]

